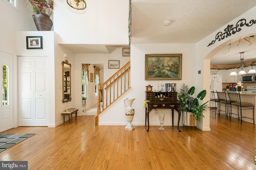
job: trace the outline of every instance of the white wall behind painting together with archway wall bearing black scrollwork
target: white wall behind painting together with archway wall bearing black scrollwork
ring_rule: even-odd
[[[173,80],[170,82],[177,83],[177,91],[182,83],[189,86],[195,86],[196,90],[200,92],[206,89],[210,91],[210,58],[221,49],[224,45],[234,42],[241,37],[249,34],[255,34],[256,24],[247,27],[243,26],[240,32],[225,38],[222,41],[216,41],[214,45],[207,47],[207,45],[215,39],[216,33],[219,31],[224,32],[227,25],[236,24],[236,22],[242,18],[245,18],[247,22],[254,20],[252,16],[256,14],[256,7],[252,8],[242,16],[227,23],[214,33],[198,42],[197,44],[131,44],[131,91],[126,94],[125,98],[136,98],[132,107],[135,109],[135,115],[132,123],[134,125],[144,125],[145,123],[145,110],[142,108],[144,102],[144,91],[147,84],[153,86],[153,90],[157,88],[157,84],[165,83],[167,81],[145,81],[144,80],[144,55],[150,53],[182,53],[182,80]],[[198,70],[202,70],[202,74],[198,74]],[[134,76],[136,75],[136,76]],[[124,104],[123,99],[119,100],[114,106],[110,107],[103,115],[99,117],[99,125],[126,125],[126,118],[124,116]],[[203,102],[207,102],[210,99],[209,93]],[[160,110],[158,110],[159,113]],[[165,125],[171,124],[170,113],[168,111],[161,111],[166,114]],[[174,125],[177,122],[177,114],[174,114]],[[198,122],[198,128],[203,131],[210,131],[210,111],[204,112],[205,118]],[[154,114],[154,111],[150,113],[150,125],[159,125],[158,116]]]

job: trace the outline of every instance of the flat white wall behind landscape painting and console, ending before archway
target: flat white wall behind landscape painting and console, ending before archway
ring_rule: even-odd
[[[180,54],[182,53],[182,80],[145,80],[145,54]],[[197,74],[194,69],[196,51],[195,44],[132,44],[131,45],[131,90],[106,113],[99,117],[99,125],[127,125],[124,115],[124,99],[136,98],[132,104],[135,109],[133,125],[145,125],[145,86],[151,84],[153,90],[157,90],[157,84],[177,83],[177,92],[182,83],[188,86],[195,85],[193,78]],[[164,125],[171,125],[171,111],[169,109],[158,109],[158,113],[166,115]],[[177,125],[178,113],[174,113],[174,125]],[[150,112],[150,125],[160,125],[158,115],[155,111]],[[182,122],[180,122],[182,125]]]

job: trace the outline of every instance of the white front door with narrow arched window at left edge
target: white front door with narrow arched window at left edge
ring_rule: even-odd
[[[14,127],[13,54],[0,51],[0,82],[2,104],[0,107],[0,132]]]

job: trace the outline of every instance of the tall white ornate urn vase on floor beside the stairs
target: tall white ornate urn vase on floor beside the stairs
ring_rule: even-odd
[[[126,120],[128,121],[128,125],[125,127],[126,130],[132,131],[134,129],[134,126],[132,125],[132,119],[134,117],[134,108],[132,108],[132,102],[135,99],[129,99],[126,98],[124,99],[124,106],[125,106],[125,115],[126,115]]]

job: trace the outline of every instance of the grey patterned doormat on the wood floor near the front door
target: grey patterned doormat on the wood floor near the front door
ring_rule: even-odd
[[[0,133],[0,152],[6,150],[25,139],[33,136],[35,134],[25,134],[25,133]]]

